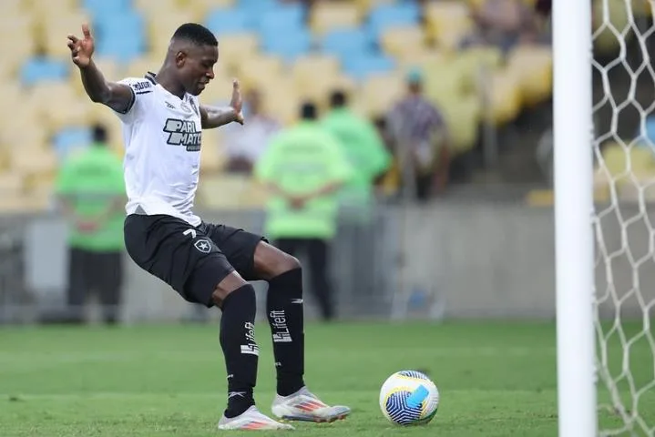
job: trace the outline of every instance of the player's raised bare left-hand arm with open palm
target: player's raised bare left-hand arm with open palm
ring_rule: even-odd
[[[102,76],[92,59],[95,45],[88,25],[82,25],[82,39],[68,36],[68,48],[73,63],[79,68],[88,97],[115,111],[126,112],[134,102],[134,93],[129,86],[107,82],[105,76]]]

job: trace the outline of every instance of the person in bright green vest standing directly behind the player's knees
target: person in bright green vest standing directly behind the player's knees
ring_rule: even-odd
[[[255,166],[256,178],[271,189],[266,234],[279,249],[307,255],[322,320],[336,315],[329,245],[337,228],[337,193],[352,175],[342,147],[317,121],[312,103],[302,105],[296,126],[271,139]]]

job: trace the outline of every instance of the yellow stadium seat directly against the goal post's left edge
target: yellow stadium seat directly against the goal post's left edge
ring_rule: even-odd
[[[534,106],[552,95],[553,56],[548,46],[519,46],[509,56],[507,68],[517,80],[523,103]]]

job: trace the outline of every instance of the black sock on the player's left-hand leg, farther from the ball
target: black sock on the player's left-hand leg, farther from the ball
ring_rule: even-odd
[[[226,417],[235,417],[254,405],[260,350],[255,342],[255,290],[250,284],[232,291],[222,305],[220,347],[228,371]]]

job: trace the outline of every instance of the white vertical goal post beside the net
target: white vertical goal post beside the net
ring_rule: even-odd
[[[553,0],[559,437],[596,437],[591,5]]]

